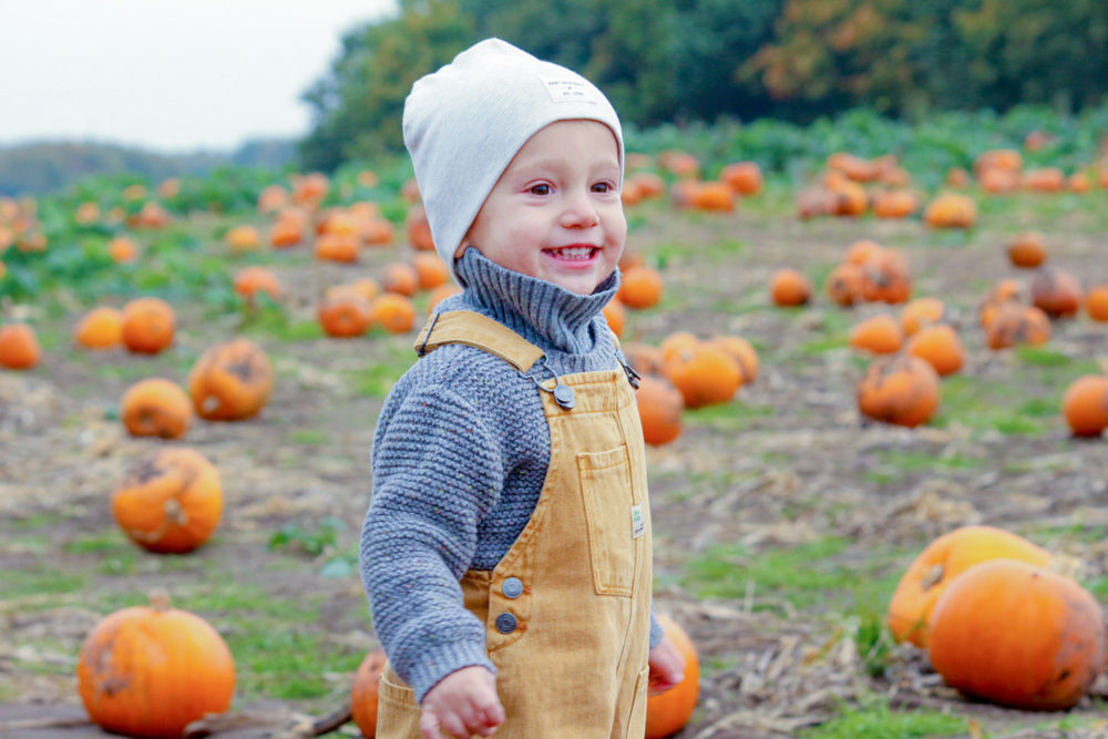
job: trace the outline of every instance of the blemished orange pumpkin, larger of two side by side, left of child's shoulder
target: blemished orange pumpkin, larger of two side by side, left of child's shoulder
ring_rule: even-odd
[[[240,421],[257,415],[269,401],[273,383],[266,352],[243,337],[209,347],[188,373],[193,408],[208,421]]]

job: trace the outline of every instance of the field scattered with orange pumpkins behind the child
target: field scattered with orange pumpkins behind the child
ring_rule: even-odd
[[[652,736],[1108,736],[1108,150],[855,133],[777,162],[628,136],[606,314],[644,376],[655,609],[699,670]],[[0,736],[109,736],[82,645],[151,593],[229,651],[211,736],[372,736],[343,719],[379,646],[375,421],[449,290],[409,177],[0,198]],[[893,607],[955,532],[978,584],[936,555],[907,578],[951,585],[934,619]]]

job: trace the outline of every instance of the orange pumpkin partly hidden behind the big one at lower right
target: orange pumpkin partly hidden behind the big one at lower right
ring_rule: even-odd
[[[926,648],[931,614],[954,578],[979,562],[1007,557],[1046,567],[1054,556],[1026,538],[994,526],[962,526],[943,534],[904,572],[889,604],[889,630],[897,642]]]

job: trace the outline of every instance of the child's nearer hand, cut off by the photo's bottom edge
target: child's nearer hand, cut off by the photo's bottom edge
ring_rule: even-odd
[[[423,696],[419,728],[423,739],[474,733],[491,737],[504,722],[496,678],[484,667],[463,667],[442,678]]]

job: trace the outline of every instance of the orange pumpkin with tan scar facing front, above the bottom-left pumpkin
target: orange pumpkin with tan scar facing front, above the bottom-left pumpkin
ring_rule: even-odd
[[[112,495],[112,515],[123,533],[158,554],[201,546],[222,513],[218,471],[203,454],[183,447],[164,447],[138,459]]]

